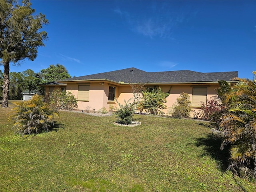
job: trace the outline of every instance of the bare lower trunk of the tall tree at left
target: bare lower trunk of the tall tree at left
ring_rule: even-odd
[[[9,96],[9,62],[4,62],[4,85],[2,86],[3,88],[3,100],[2,100],[2,107],[8,107],[8,96]]]

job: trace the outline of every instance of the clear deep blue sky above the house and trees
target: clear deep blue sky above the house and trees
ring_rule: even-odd
[[[49,20],[48,40],[10,72],[57,63],[71,76],[135,67],[253,78],[256,70],[256,1],[31,2]]]

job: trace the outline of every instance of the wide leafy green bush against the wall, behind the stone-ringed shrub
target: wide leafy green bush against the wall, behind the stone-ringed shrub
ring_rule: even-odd
[[[155,115],[164,114],[161,110],[166,109],[164,103],[167,102],[166,98],[169,94],[162,92],[160,87],[159,89],[142,91],[142,101],[138,102],[137,109],[141,112],[146,110],[146,112]]]

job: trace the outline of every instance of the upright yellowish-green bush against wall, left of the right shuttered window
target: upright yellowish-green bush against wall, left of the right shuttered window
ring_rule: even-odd
[[[187,93],[181,93],[176,103],[172,107],[172,116],[174,118],[189,117],[191,112],[191,101]]]

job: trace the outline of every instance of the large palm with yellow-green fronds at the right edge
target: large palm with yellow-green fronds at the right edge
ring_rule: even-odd
[[[256,81],[234,80],[239,82],[225,95],[230,108],[220,123],[226,133],[221,149],[231,144],[229,168],[256,179]]]

